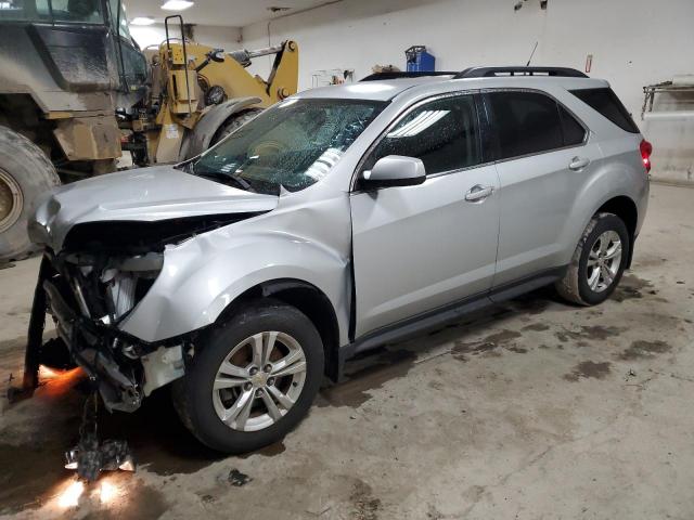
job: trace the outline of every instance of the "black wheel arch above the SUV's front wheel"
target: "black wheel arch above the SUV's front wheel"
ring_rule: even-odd
[[[304,313],[321,336],[325,354],[325,375],[333,381],[338,378],[339,325],[337,313],[327,297],[313,284],[297,278],[277,278],[261,282],[239,295],[217,317],[222,323],[243,307],[262,298],[272,297]]]

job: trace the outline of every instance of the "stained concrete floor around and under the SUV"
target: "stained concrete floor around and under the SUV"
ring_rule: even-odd
[[[0,416],[8,518],[694,518],[694,191],[654,185],[606,303],[550,291],[350,363],[282,443],[220,458],[165,393],[105,417],[141,467],[70,497],[79,375]],[[0,380],[20,375],[36,259],[0,271]],[[74,504],[77,503],[75,506]]]

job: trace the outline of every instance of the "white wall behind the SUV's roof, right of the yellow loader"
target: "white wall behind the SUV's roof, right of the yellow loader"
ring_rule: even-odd
[[[242,29],[247,49],[286,38],[300,47],[299,88],[319,69],[374,64],[404,69],[404,49],[425,44],[439,70],[472,65],[524,65],[535,42],[534,65],[583,69],[607,79],[654,144],[654,177],[692,180],[694,121],[640,120],[644,84],[694,73],[694,0],[343,0]],[[271,61],[252,70],[267,76]],[[694,101],[694,99],[693,99]],[[680,102],[676,106],[681,107]],[[671,108],[672,106],[669,106]]]

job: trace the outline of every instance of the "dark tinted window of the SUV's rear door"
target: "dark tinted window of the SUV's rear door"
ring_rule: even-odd
[[[556,102],[536,92],[490,92],[499,136],[499,158],[560,148],[562,122]]]

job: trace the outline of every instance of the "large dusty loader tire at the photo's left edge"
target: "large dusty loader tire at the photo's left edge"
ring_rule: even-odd
[[[0,261],[31,252],[26,226],[34,200],[60,183],[41,148],[0,126]]]

